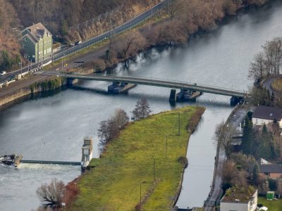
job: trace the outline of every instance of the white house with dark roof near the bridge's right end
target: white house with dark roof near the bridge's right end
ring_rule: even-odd
[[[269,106],[258,106],[252,114],[252,124],[264,125],[276,120],[282,128],[282,109]]]

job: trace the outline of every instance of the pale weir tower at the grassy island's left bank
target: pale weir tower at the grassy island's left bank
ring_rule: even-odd
[[[92,145],[93,145],[93,138],[90,136],[86,136],[83,140],[83,146],[82,146],[82,158],[81,158],[82,170],[85,170],[87,166],[90,164],[93,155]]]

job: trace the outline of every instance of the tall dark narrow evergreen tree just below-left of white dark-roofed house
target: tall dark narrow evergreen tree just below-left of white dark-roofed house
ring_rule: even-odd
[[[248,116],[245,117],[245,124],[243,127],[243,138],[242,138],[242,150],[246,155],[250,155],[254,152],[255,148],[255,137],[252,129],[252,121]]]

